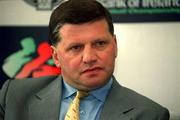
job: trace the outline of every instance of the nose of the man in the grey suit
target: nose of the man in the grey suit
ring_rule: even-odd
[[[96,51],[91,46],[84,48],[82,57],[85,64],[94,64],[97,61]]]

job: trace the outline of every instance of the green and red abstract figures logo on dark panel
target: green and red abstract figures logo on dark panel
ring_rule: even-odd
[[[4,60],[2,69],[8,77],[40,77],[61,73],[51,59],[48,42],[44,41],[36,46],[34,41],[31,37],[20,40],[21,49],[14,51]]]

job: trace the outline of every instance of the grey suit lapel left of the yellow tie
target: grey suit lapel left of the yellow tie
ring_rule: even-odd
[[[29,120],[59,120],[61,77],[35,94],[29,102]]]

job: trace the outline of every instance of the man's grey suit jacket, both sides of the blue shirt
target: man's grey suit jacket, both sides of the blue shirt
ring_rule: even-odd
[[[8,80],[0,92],[0,120],[59,120],[61,80]],[[169,112],[114,79],[100,120],[169,120]]]

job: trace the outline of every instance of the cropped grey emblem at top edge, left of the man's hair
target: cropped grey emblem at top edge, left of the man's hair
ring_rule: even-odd
[[[24,0],[26,3],[36,7],[37,10],[52,10],[62,0]]]

